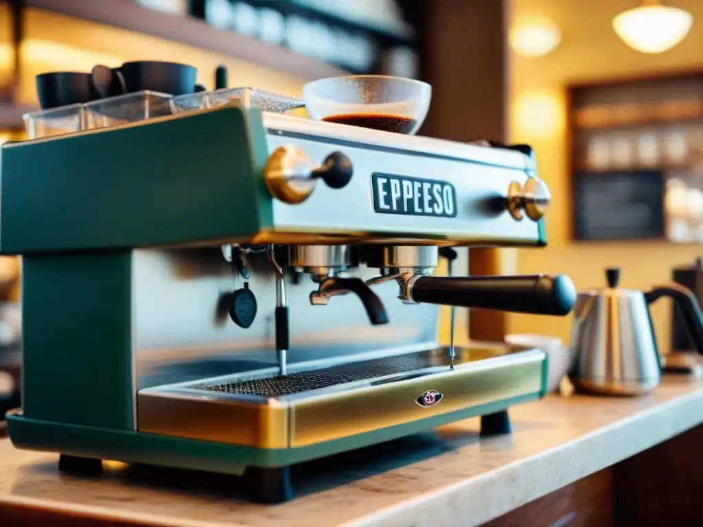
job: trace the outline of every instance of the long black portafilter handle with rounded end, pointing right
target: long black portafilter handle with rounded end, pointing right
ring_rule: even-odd
[[[567,275],[467,276],[416,278],[413,300],[532,315],[568,315],[576,288]]]

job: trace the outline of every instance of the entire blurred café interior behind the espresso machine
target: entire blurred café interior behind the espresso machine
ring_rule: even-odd
[[[37,74],[95,64],[187,63],[207,89],[224,65],[230,86],[295,96],[345,72],[423,79],[434,93],[420,134],[528,143],[553,194],[548,248],[472,250],[461,266],[568,273],[579,289],[620,266],[621,285],[646,289],[692,266],[703,242],[702,49],[700,0],[6,1],[0,141],[26,137]],[[6,299],[18,276],[5,259]],[[484,316],[463,313],[458,332],[566,340],[571,325]],[[654,306],[662,347],[670,317]]]

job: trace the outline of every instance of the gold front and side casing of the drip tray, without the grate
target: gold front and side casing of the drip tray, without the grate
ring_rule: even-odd
[[[300,448],[538,393],[544,360],[537,350],[475,356],[454,370],[415,370],[279,399],[151,388],[138,393],[138,430],[263,449]],[[415,401],[428,390],[441,392],[441,401],[421,407]]]

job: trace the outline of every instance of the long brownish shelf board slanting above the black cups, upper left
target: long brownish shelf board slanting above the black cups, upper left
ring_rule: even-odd
[[[348,74],[339,67],[289,49],[127,0],[25,0],[25,6],[179,42],[304,79]]]

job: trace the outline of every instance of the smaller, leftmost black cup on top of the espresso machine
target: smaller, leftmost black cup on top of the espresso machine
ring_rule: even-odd
[[[89,73],[52,72],[37,75],[37,97],[42,110],[98,98]]]

